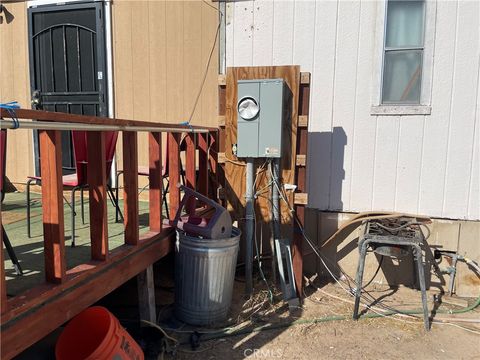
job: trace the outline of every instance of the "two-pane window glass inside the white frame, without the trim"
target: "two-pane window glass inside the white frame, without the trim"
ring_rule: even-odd
[[[388,0],[382,104],[420,104],[424,5],[423,1]]]

